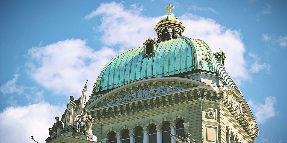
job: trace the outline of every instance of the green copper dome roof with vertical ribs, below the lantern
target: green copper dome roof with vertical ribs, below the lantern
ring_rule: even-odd
[[[155,53],[144,55],[144,47],[126,50],[103,68],[94,91],[122,86],[136,80],[164,77],[195,69],[213,71],[225,85],[239,88],[219,63],[207,44],[199,39],[179,37],[158,43]]]

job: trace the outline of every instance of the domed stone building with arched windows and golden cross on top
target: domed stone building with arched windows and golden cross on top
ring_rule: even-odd
[[[157,38],[106,64],[85,106],[97,142],[175,143],[170,134],[184,132],[196,143],[254,142],[259,130],[225,70],[225,53],[184,30],[169,13],[155,27]]]

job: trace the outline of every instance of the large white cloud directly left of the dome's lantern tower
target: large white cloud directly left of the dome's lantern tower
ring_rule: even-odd
[[[141,11],[137,5],[126,10],[122,3],[111,2],[101,4],[85,18],[101,15],[101,25],[95,27],[103,33],[101,41],[108,46],[120,44],[127,49],[142,46],[149,37],[156,38],[153,29],[161,17],[143,16]]]

